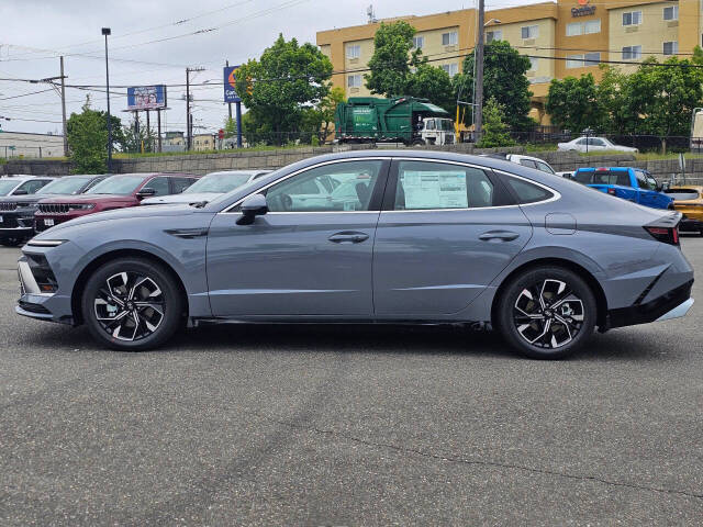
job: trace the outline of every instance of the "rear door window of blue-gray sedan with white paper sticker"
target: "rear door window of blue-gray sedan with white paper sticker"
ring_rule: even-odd
[[[395,211],[492,206],[495,192],[483,170],[461,165],[399,161]]]

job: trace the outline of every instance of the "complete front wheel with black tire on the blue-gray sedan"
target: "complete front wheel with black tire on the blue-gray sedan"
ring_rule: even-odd
[[[161,346],[182,326],[183,311],[176,278],[146,258],[120,258],[99,267],[81,298],[90,334],[121,351]]]

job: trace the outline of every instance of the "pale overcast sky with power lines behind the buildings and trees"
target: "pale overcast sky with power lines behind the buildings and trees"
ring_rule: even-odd
[[[473,7],[457,0],[0,0],[0,78],[58,76],[63,54],[68,85],[104,86],[101,27],[108,26],[110,91],[119,92],[111,94],[110,105],[126,123],[131,114],[123,113],[123,86],[185,83],[186,67],[205,68],[191,74],[192,82],[222,82],[225,60],[258,58],[279,33],[315,43],[317,31],[364,24],[370,3],[379,19]],[[517,3],[532,2],[487,0],[487,9]],[[164,130],[185,130],[185,91],[168,88]],[[222,85],[193,88],[194,133],[222,127],[227,114],[222,92]],[[68,115],[80,111],[87,93],[92,108],[105,109],[104,89],[67,88]],[[4,131],[59,134],[60,99],[45,83],[0,80],[2,116],[12,119],[0,119]]]

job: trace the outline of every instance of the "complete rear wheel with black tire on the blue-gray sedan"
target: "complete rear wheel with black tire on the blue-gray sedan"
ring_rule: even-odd
[[[562,267],[545,267],[526,269],[511,280],[493,322],[522,355],[561,359],[588,340],[596,315],[595,296],[585,281]]]

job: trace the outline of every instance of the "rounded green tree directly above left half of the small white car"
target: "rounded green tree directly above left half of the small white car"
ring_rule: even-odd
[[[554,124],[574,134],[585,128],[601,130],[605,121],[605,108],[591,74],[581,75],[578,79],[553,79],[545,110]]]

